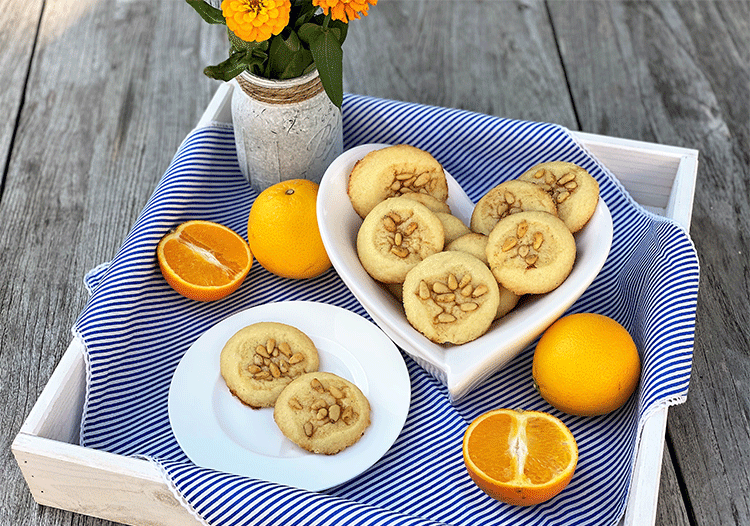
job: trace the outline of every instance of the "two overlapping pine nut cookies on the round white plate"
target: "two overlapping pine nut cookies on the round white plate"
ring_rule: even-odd
[[[352,382],[318,371],[318,351],[301,330],[259,322],[235,333],[221,351],[230,392],[254,408],[272,407],[292,442],[332,455],[356,443],[370,425],[370,404]]]

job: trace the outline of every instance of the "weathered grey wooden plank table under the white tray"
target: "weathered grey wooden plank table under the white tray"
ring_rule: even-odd
[[[0,524],[39,506],[10,445],[217,83],[223,31],[184,2],[0,0]],[[348,92],[700,150],[688,400],[669,411],[656,524],[750,524],[750,2],[380,0]]]

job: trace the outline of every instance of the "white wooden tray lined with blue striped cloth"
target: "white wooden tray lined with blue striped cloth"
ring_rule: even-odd
[[[198,127],[231,122],[232,89],[230,82],[217,90]],[[697,150],[574,134],[638,203],[689,230]],[[78,445],[85,393],[84,349],[73,340],[12,445],[34,500],[133,526],[199,524],[156,465]],[[653,525],[656,520],[666,424],[667,409],[645,423],[623,525]]]

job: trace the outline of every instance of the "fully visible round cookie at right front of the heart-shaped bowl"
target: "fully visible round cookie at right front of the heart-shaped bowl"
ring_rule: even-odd
[[[516,294],[542,294],[570,274],[576,242],[563,221],[546,212],[501,219],[487,239],[487,261],[498,283]]]

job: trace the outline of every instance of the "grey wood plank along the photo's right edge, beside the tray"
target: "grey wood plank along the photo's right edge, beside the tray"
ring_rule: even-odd
[[[701,152],[691,225],[702,266],[693,376],[668,429],[695,523],[746,524],[750,3],[549,5],[585,131]],[[660,507],[672,501],[668,491],[663,485]]]

